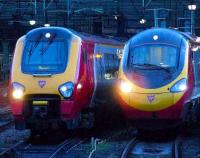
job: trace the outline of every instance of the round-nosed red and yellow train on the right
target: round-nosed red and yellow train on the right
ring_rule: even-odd
[[[154,128],[200,117],[200,39],[154,28],[125,45],[116,86],[126,118]],[[168,122],[167,124],[163,122]],[[153,124],[152,124],[153,123]]]

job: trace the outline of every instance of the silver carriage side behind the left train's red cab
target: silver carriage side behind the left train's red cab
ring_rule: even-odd
[[[117,47],[110,45],[96,44],[94,49],[94,74],[96,83],[96,97],[112,98],[112,86],[117,77],[119,59]]]

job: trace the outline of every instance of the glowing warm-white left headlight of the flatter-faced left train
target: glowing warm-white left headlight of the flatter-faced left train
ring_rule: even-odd
[[[24,96],[25,87],[18,83],[14,82],[12,84],[12,96],[14,99],[21,99]]]

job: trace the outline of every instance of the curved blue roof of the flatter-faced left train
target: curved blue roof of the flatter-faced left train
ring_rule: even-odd
[[[33,37],[36,32],[52,32],[52,31],[58,31],[58,30],[59,30],[59,33],[61,35],[68,34],[69,36],[77,36],[77,37],[79,37],[82,40],[87,41],[87,42],[94,42],[94,43],[101,43],[101,44],[111,44],[111,45],[119,45],[119,46],[123,46],[124,43],[125,43],[121,39],[116,39],[114,37],[95,36],[95,35],[91,35],[89,33],[77,32],[75,30],[67,29],[67,28],[64,28],[64,27],[40,27],[40,28],[36,28],[36,29],[29,31],[26,34],[26,37],[27,38]]]

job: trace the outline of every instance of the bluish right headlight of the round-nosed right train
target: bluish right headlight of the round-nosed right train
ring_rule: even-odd
[[[187,80],[186,78],[183,78],[179,81],[177,81],[170,89],[170,92],[172,93],[178,93],[183,92],[187,89]]]

